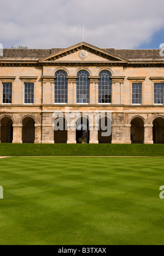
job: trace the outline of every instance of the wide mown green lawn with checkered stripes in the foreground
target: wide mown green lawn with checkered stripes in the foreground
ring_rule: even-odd
[[[164,158],[0,164],[0,245],[164,245]]]

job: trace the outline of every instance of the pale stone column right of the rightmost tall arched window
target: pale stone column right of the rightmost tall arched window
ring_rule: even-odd
[[[124,94],[124,79],[125,77],[110,77],[112,79],[112,104],[122,105]]]

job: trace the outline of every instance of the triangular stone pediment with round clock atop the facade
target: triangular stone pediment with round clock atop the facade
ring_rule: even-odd
[[[84,50],[87,54],[81,59],[79,54]],[[109,51],[97,48],[85,42],[76,44],[69,48],[57,51],[38,60],[39,62],[127,62],[124,57],[118,56]]]

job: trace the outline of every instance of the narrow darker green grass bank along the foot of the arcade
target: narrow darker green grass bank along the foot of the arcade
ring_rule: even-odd
[[[0,156],[164,156],[164,144],[5,144]]]

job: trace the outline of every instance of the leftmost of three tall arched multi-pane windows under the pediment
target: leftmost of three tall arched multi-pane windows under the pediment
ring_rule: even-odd
[[[67,73],[63,70],[55,73],[55,103],[67,103],[68,83]]]

